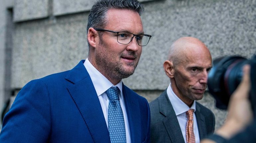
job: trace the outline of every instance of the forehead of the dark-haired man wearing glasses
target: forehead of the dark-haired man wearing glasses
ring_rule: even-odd
[[[127,9],[109,9],[106,14],[107,24],[105,29],[113,31],[127,31],[131,33],[143,33],[143,25],[140,15]]]

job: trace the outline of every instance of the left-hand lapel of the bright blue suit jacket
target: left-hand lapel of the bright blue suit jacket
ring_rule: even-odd
[[[80,111],[93,141],[95,143],[110,143],[101,105],[83,62],[84,60],[80,61],[66,76],[65,79],[72,83],[67,86],[67,90]]]

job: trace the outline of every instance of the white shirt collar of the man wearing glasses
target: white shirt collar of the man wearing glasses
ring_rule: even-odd
[[[122,80],[113,85],[105,76],[103,76],[86,58],[83,65],[85,66],[88,74],[90,75],[91,81],[93,86],[96,90],[98,96],[104,93],[107,89],[111,88],[112,86],[117,86],[121,91],[121,98],[122,98]]]

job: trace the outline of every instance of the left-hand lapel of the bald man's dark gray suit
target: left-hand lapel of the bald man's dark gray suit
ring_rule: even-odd
[[[182,131],[166,90],[159,97],[159,110],[166,118],[163,124],[172,143],[185,143]]]

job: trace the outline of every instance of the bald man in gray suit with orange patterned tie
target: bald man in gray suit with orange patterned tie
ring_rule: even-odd
[[[211,54],[200,40],[183,37],[174,42],[164,62],[171,84],[149,104],[152,143],[199,143],[214,131],[213,113],[195,102],[203,97],[211,67]]]

